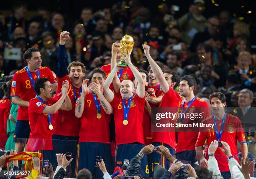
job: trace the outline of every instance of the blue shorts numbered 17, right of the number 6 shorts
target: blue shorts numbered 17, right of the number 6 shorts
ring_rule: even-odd
[[[153,142],[152,143],[154,146],[160,146],[160,145],[164,145],[166,146],[170,153],[172,155],[174,155],[174,149],[172,147],[170,147],[167,144],[163,144],[160,142]],[[151,154],[148,154],[148,169],[149,169],[149,175],[153,176],[154,174],[154,167],[156,165],[161,165],[163,168],[165,168],[166,170],[168,170],[171,166],[171,162],[166,159],[164,156],[156,153],[155,151],[153,151]]]

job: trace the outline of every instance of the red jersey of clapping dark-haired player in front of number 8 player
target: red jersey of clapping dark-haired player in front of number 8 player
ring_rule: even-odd
[[[48,103],[48,104],[47,104]],[[28,116],[31,133],[28,139],[27,151],[52,150],[53,130],[49,129],[48,115],[43,113],[44,108],[56,103],[54,98],[43,104],[39,99],[33,98],[29,101]],[[52,119],[51,119],[52,120]],[[51,121],[53,123],[53,121]]]

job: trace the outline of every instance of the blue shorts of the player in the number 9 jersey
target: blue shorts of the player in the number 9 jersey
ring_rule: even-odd
[[[99,167],[95,167],[96,156],[101,156],[109,174],[113,173],[113,162],[111,158],[110,144],[99,142],[81,142],[79,144],[78,170],[88,169],[92,173],[93,179],[102,179],[103,173]]]

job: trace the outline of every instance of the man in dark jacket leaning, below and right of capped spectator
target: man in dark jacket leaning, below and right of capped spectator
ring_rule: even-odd
[[[192,42],[190,44],[190,50],[195,52],[196,47],[200,43],[208,43],[212,44],[212,38],[218,32],[218,28],[220,25],[219,18],[217,16],[212,16],[207,20],[207,28],[203,32],[198,32],[195,34]]]

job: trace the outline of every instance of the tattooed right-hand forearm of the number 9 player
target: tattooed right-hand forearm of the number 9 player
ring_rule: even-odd
[[[97,96],[100,99],[100,104],[101,104],[102,108],[104,109],[104,111],[107,114],[111,114],[113,112],[113,108],[110,105],[110,103],[106,100],[106,98],[103,95],[102,91],[100,90],[100,83],[99,83],[99,81],[97,81],[97,83],[92,82],[90,90],[92,90],[95,94],[97,94]]]

